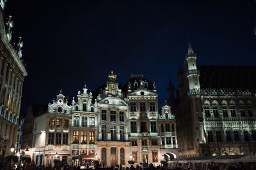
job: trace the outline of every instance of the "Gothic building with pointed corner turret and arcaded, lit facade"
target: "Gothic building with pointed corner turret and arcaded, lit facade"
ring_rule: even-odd
[[[175,107],[180,157],[256,153],[255,68],[197,66],[189,43]]]

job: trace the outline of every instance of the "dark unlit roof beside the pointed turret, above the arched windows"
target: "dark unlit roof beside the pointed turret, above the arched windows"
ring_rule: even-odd
[[[256,89],[256,66],[197,66],[201,89]]]

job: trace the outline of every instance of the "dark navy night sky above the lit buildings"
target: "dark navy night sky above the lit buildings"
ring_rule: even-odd
[[[198,64],[255,65],[256,2],[251,1],[12,1],[13,42],[22,36],[28,103],[48,104],[59,89],[69,100],[108,80],[144,74],[157,83],[159,107],[169,75],[177,87],[188,35]]]

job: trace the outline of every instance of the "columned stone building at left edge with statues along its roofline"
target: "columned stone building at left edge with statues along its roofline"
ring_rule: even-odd
[[[23,43],[20,38],[13,47],[12,16],[4,23],[4,1],[0,4],[0,155],[4,157],[16,145],[22,85],[27,72],[20,50]]]

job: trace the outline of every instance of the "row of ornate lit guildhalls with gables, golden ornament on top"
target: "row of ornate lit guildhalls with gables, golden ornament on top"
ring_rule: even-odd
[[[129,166],[128,160],[146,167],[178,157],[175,116],[167,104],[159,113],[156,83],[143,75],[131,75],[124,86],[113,72],[108,78],[92,92],[84,85],[70,103],[60,91],[47,113],[35,117],[28,148],[35,164],[60,159],[84,166],[98,159],[104,167]]]

